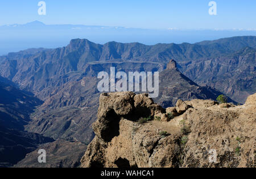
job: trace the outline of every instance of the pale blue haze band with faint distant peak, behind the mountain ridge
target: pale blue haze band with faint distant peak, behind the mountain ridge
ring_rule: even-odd
[[[46,25],[39,21],[27,24],[0,26],[0,55],[28,48],[57,48],[67,45],[70,39],[89,39],[105,44],[139,42],[147,45],[157,43],[196,43],[232,36],[256,35],[256,30],[168,30],[84,26]]]

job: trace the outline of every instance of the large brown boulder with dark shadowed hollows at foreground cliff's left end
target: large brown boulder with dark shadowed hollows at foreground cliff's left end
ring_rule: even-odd
[[[119,134],[119,121],[122,117],[134,121],[164,112],[165,110],[154,103],[148,94],[103,93],[100,95],[98,120],[92,124],[92,127],[98,138],[108,142]]]

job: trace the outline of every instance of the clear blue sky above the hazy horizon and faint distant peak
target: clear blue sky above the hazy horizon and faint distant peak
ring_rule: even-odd
[[[1,1],[0,25],[40,20],[46,24],[85,24],[136,28],[256,28],[255,0],[45,0],[47,15],[38,15],[39,0]]]

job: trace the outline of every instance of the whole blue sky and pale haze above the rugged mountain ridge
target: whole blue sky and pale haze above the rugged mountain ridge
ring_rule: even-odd
[[[76,38],[153,45],[256,35],[256,1],[10,0],[1,5],[0,55],[63,47]]]

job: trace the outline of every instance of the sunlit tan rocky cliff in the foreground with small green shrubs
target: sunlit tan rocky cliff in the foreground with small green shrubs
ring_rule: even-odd
[[[101,94],[82,167],[255,167],[256,94],[243,106]],[[150,116],[150,117],[149,117]]]

